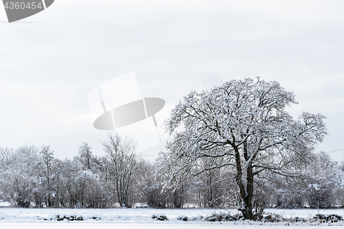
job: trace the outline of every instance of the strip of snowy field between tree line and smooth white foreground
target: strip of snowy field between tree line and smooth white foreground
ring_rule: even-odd
[[[183,209],[155,209],[155,208],[109,208],[109,209],[59,209],[59,208],[0,208],[0,219],[2,221],[37,221],[48,219],[55,215],[76,215],[89,217],[99,217],[100,221],[155,221],[152,215],[166,215],[169,221],[180,221],[178,217],[187,216],[189,219],[206,217],[213,212],[232,212],[236,214],[236,209],[213,209],[213,208],[183,208]],[[312,218],[318,214],[317,209],[277,209],[266,208],[265,212],[279,214],[285,219],[292,217]],[[320,214],[337,214],[344,216],[344,209],[320,209]],[[89,219],[94,221],[93,219]]]

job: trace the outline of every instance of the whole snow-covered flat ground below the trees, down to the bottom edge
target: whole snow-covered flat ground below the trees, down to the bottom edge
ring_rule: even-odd
[[[233,214],[235,209],[229,209]],[[0,228],[203,228],[211,226],[200,222],[201,217],[211,215],[213,212],[228,212],[228,209],[186,208],[186,209],[155,209],[155,208],[111,208],[111,209],[55,209],[55,208],[0,208]],[[303,217],[312,219],[318,214],[317,209],[275,209],[268,208],[266,212],[277,213],[285,219]],[[320,209],[320,214],[336,214],[344,216],[344,209]],[[56,221],[56,215],[63,217],[83,217],[85,221]],[[169,221],[157,221],[152,215],[166,215]],[[180,216],[186,216],[195,221],[180,221]],[[95,217],[96,219],[92,219]],[[44,219],[53,219],[45,221]],[[55,221],[54,221],[55,219]],[[209,223],[209,222],[207,222]],[[215,225],[219,226],[219,225]],[[227,225],[228,226],[228,225]],[[221,226],[222,228],[224,226]],[[255,228],[261,226],[250,226]],[[293,228],[289,226],[288,228]],[[297,226],[300,228],[300,226]]]

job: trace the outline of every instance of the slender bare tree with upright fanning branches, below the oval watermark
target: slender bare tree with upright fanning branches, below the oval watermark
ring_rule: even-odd
[[[102,142],[109,160],[109,173],[115,183],[120,206],[131,207],[129,197],[133,194],[133,181],[138,175],[140,163],[136,155],[136,141],[122,138],[118,133],[111,135],[109,141]]]

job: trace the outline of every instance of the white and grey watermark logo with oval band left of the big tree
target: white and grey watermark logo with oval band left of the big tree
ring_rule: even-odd
[[[133,72],[100,83],[89,92],[88,98],[94,128],[133,136],[138,151],[160,144],[168,137],[160,127],[166,118],[165,101],[142,97]]]

